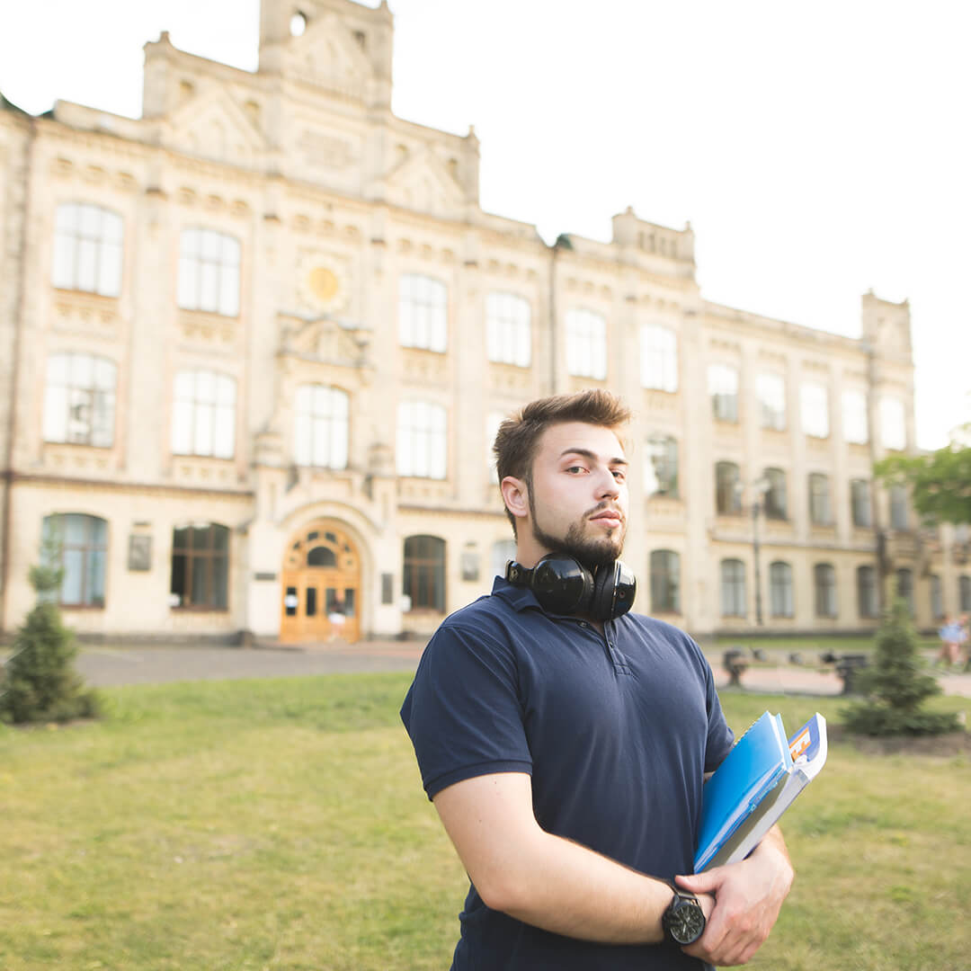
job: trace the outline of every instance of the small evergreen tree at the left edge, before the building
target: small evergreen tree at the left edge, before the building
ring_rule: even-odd
[[[43,565],[31,567],[37,604],[17,630],[14,653],[0,680],[0,720],[68,721],[93,718],[98,698],[74,670],[78,646],[61,623],[56,591],[64,571],[46,549]]]

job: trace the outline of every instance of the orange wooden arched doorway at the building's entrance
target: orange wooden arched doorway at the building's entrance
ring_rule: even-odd
[[[318,519],[291,536],[281,577],[281,641],[359,639],[360,556],[339,523]],[[333,621],[335,609],[343,624]]]

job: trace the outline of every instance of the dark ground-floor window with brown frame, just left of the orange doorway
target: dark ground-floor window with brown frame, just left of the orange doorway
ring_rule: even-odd
[[[193,522],[172,531],[174,607],[226,610],[229,602],[229,529]]]

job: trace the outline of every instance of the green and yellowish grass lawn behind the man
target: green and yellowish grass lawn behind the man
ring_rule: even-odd
[[[0,968],[448,967],[466,881],[398,720],[409,682],[115,688],[99,722],[0,726]],[[842,705],[722,700],[736,729]],[[798,876],[750,966],[971,967],[969,806],[965,756],[831,746],[787,814]]]

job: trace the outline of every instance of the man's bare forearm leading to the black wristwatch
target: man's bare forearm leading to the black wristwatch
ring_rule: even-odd
[[[663,939],[667,884],[542,829],[525,773],[478,776],[442,789],[435,809],[488,907],[568,937],[606,944]],[[706,916],[711,897],[702,896]]]

